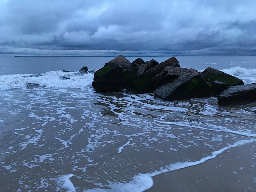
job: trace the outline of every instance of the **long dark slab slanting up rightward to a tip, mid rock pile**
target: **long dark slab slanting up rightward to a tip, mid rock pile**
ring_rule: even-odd
[[[135,76],[130,82],[131,90],[137,93],[153,92],[155,90],[155,86],[152,84],[151,80],[167,66],[175,67],[180,65],[179,61],[175,57],[156,65],[154,68]]]

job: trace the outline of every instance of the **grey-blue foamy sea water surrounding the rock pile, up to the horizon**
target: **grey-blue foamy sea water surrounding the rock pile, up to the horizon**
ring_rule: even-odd
[[[176,58],[181,67],[213,67],[256,83],[256,56]],[[93,73],[78,70],[112,59],[0,56],[0,191],[146,191],[159,174],[256,146],[255,103],[219,107],[215,97],[165,102],[95,92]],[[248,164],[244,191],[256,190],[255,164]]]

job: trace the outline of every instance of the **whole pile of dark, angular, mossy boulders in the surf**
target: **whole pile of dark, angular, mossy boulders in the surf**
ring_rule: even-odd
[[[119,55],[95,71],[92,86],[97,92],[154,93],[165,101],[217,96],[220,106],[256,102],[256,84],[244,85],[210,67],[202,73],[181,68],[175,57],[161,63],[137,58],[131,63]]]

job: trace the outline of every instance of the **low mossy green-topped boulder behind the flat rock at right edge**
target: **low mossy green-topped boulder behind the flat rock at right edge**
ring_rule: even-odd
[[[243,85],[244,82],[237,77],[224,73],[215,68],[208,67],[206,68],[202,74],[205,78],[209,79],[210,82],[214,82],[215,80],[220,81],[222,83],[226,83],[229,86]]]

